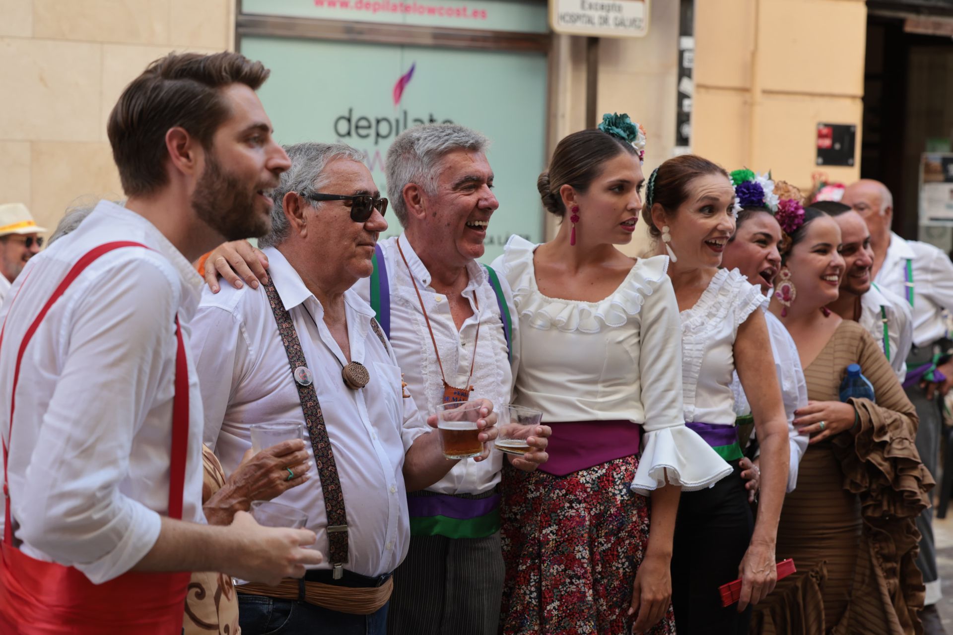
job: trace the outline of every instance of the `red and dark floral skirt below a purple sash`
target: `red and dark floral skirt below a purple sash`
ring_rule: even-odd
[[[629,489],[639,460],[562,477],[503,465],[500,632],[631,633],[632,585],[649,539],[649,499]],[[671,607],[648,632],[675,633]]]

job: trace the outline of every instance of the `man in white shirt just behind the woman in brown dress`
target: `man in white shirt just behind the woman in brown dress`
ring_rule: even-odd
[[[873,282],[870,229],[860,214],[842,203],[819,201],[811,207],[833,216],[841,228],[841,295],[829,308],[844,320],[853,320],[867,329],[903,383],[906,358],[913,347],[913,318],[905,300]]]

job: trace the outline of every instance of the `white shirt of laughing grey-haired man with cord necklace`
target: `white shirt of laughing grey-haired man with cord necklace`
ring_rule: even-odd
[[[397,241],[400,241],[400,247],[407,258],[407,265],[404,265],[400,252],[397,251]],[[463,387],[474,360],[474,341],[478,323],[476,367],[470,382],[474,391],[470,394],[470,398],[489,399],[496,407],[509,404],[513,390],[513,369],[518,366],[519,340],[516,325],[517,313],[513,306],[510,287],[502,274],[498,276],[499,283],[510,307],[510,315],[514,316],[512,367],[507,354],[503,323],[499,316],[497,294],[490,286],[490,279],[484,268],[480,267],[476,261],[471,261],[467,265],[470,281],[463,289],[462,295],[470,303],[474,314],[467,318],[463,326],[457,330],[447,297],[437,293],[430,286],[432,280],[430,271],[417,257],[407,236],[400,234],[400,236],[381,241],[379,245],[384,253],[391,288],[391,346],[394,347],[397,362],[404,373],[407,391],[414,396],[417,406],[423,408],[428,414],[435,413],[436,407],[443,403],[443,380],[440,376],[440,367],[436,363],[434,344],[431,342],[427,323],[420,310],[420,301],[411,284],[411,273],[414,275],[420,297],[423,298],[424,307],[427,309],[430,326],[434,329],[434,339],[440,351],[440,362],[447,373],[447,382],[451,386]],[[408,265],[410,271],[408,271]],[[359,281],[355,289],[365,300],[370,298],[369,280]],[[502,452],[497,451],[491,452],[489,459],[479,463],[460,461],[446,476],[427,489],[441,494],[480,494],[493,489],[499,483],[502,466],[503,455]]]

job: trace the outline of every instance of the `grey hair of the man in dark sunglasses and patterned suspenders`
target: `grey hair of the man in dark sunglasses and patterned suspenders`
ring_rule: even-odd
[[[282,172],[281,183],[274,189],[272,200],[272,230],[267,236],[258,239],[259,247],[275,247],[288,239],[291,224],[285,216],[283,202],[290,191],[321,189],[326,181],[322,178],[324,169],[332,159],[343,157],[358,163],[364,163],[364,153],[347,144],[323,144],[309,141],[294,146],[285,146],[292,167]],[[309,203],[318,209],[323,203]]]

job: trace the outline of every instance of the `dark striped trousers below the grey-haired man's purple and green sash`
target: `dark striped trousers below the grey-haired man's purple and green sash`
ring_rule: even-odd
[[[487,538],[412,536],[395,569],[390,635],[497,635],[503,594],[499,532]]]

